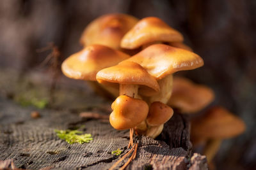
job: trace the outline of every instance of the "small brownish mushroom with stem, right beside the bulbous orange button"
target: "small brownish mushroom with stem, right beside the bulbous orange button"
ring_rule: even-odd
[[[147,124],[147,136],[156,138],[163,131],[163,124],[166,123],[173,115],[173,110],[166,104],[156,101],[150,105]]]

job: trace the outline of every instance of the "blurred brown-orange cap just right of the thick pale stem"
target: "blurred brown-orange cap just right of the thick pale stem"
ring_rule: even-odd
[[[214,100],[214,92],[204,85],[196,85],[188,78],[174,76],[172,97],[168,105],[181,113],[195,113]]]

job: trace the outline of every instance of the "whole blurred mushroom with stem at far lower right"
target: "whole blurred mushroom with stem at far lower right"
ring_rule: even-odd
[[[221,106],[215,106],[203,117],[192,121],[191,140],[193,145],[198,144],[198,141],[206,143],[204,155],[208,162],[211,162],[220,148],[221,140],[234,138],[242,134],[244,130],[245,124],[241,118]]]

